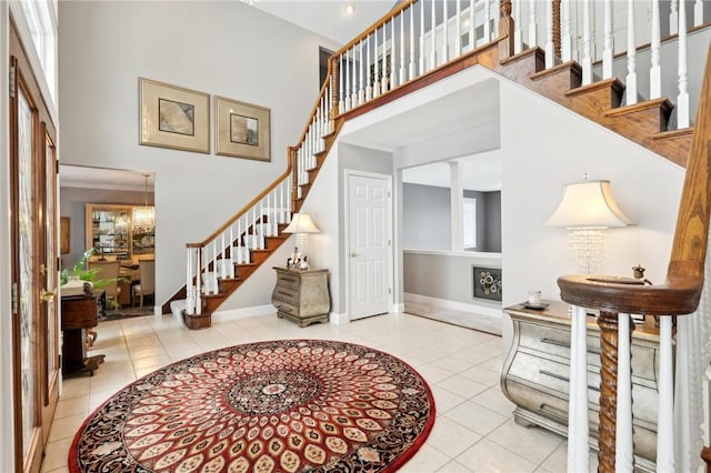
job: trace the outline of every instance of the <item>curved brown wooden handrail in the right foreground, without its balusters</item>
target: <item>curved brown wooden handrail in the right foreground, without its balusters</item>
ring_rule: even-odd
[[[565,302],[610,312],[683,315],[695,311],[704,279],[711,210],[711,47],[693,130],[667,280],[659,285],[558,280]]]

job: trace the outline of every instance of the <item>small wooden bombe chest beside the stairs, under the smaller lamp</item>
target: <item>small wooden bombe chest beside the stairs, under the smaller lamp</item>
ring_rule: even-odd
[[[328,322],[331,310],[329,270],[288,270],[274,268],[277,285],[271,302],[277,316],[307,326],[313,322]]]

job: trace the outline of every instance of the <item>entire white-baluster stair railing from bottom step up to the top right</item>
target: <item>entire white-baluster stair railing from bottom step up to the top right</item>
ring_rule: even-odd
[[[628,1],[632,4],[632,0]],[[319,158],[324,158],[327,139],[338,131],[349,114],[362,112],[370,103],[383,98],[397,97],[398,90],[413,81],[427,81],[447,64],[467,56],[475,56],[478,50],[499,42],[499,38],[503,38],[505,44],[511,47],[511,51],[507,47],[504,57],[523,48],[544,43],[545,49],[552,51],[545,59],[551,68],[561,61],[558,56],[562,54],[562,61],[580,59],[584,69],[592,67],[592,72],[584,73],[590,80],[594,77],[595,68],[608,70],[608,66],[595,66],[598,57],[594,52],[604,51],[602,56],[609,59],[610,48],[605,49],[604,44],[610,42],[610,37],[605,33],[603,40],[594,39],[600,38],[600,31],[615,31],[619,34],[619,31],[627,29],[624,24],[612,24],[610,0],[604,1],[603,24],[595,26],[592,19],[599,14],[593,14],[593,8],[599,7],[591,3],[595,2],[404,0],[341,48],[329,61],[327,79],[299,141],[290,148],[290,163],[286,173],[263,195],[241,209],[208,239],[187,244],[187,313],[200,313],[201,294],[218,292],[218,276],[232,276],[233,270],[229,269],[231,264],[243,262],[248,258],[244,249],[263,241],[261,236],[264,235],[264,230],[261,225],[273,223],[273,217],[264,214],[264,211],[278,209],[281,220],[284,220],[290,212],[299,210],[311,180],[318,172]],[[657,0],[652,3],[659,6]],[[674,4],[677,2],[672,1],[672,9],[675,9]],[[512,7],[513,18],[518,21],[512,21],[508,16]],[[695,18],[703,17],[703,4],[700,8],[701,12]],[[501,13],[504,14],[503,21],[500,20]],[[687,24],[683,6],[680,4],[674,14],[678,20],[672,20],[672,24]],[[581,23],[581,18],[589,20],[584,21],[588,28],[574,27]],[[631,18],[629,24],[634,23],[637,16]],[[545,28],[540,28],[540,24],[545,24]],[[524,29],[528,34],[523,32]],[[679,31],[678,42],[681,49],[678,62],[679,77],[682,78],[685,77],[685,72],[682,73],[685,68],[682,66],[687,54],[687,28],[680,28]],[[669,31],[664,33],[667,32]],[[631,37],[634,38],[634,34]],[[629,44],[639,46],[639,42],[632,40]],[[632,51],[628,54],[632,57],[628,62],[634,63],[635,49],[629,47],[628,50]],[[684,84],[685,81],[680,79],[679,89],[685,91]],[[632,95],[637,97],[637,93]],[[680,97],[683,104],[683,94]],[[680,118],[679,122],[683,123],[683,120]],[[288,178],[289,173],[291,178]],[[277,201],[284,203],[277,205]],[[271,231],[274,231],[273,228]]]

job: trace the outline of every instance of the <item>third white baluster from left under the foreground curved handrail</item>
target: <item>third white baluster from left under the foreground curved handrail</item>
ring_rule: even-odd
[[[659,320],[659,409],[657,424],[657,470],[673,472],[674,467],[674,370],[672,352],[672,318]]]

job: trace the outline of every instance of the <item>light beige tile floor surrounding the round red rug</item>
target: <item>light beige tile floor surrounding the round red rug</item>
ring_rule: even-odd
[[[183,358],[274,339],[332,339],[372,346],[413,365],[434,394],[437,421],[401,472],[563,472],[565,441],[513,422],[499,389],[501,338],[408,314],[304,329],[276,316],[214,321],[190,331],[170,315],[101,322],[92,353],[106,354],[94,376],[66,380],[50,430],[42,472],[67,472],[83,420],[111,394]],[[597,466],[591,465],[593,469]]]

